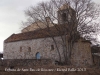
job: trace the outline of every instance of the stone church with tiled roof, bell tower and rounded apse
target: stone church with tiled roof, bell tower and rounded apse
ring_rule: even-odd
[[[58,15],[59,24],[63,24],[63,22],[71,18],[67,16],[67,9],[68,6],[63,5],[58,10],[58,14],[62,14]],[[49,22],[49,17],[46,17],[46,19]],[[24,28],[21,33],[12,34],[4,41],[4,59],[52,59],[53,61],[59,61],[57,48],[47,32],[47,28],[41,21],[37,23],[42,29],[39,29],[34,22],[32,25]],[[62,58],[61,61],[63,62],[64,56],[61,38],[57,30],[54,29],[54,26],[51,23],[49,25],[51,33],[55,36],[54,38],[56,39]],[[71,54],[73,65],[92,65],[90,45],[91,43],[83,38],[80,38],[74,44]]]

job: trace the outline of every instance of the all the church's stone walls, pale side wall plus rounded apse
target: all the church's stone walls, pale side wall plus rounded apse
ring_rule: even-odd
[[[63,46],[60,37],[55,37],[58,49],[61,55],[61,61],[64,61]],[[51,46],[54,46],[54,49]],[[41,38],[33,40],[23,40],[4,43],[4,59],[36,59],[36,53],[39,52],[41,59],[51,59],[59,61],[59,55],[51,38]],[[89,42],[77,41],[72,49],[71,63],[76,66],[92,65],[91,47]]]

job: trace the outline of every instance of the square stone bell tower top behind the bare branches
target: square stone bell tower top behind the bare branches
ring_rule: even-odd
[[[58,10],[59,25],[76,22],[76,12],[68,4],[64,4]]]

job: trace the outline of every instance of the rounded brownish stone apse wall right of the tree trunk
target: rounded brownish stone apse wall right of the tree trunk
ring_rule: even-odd
[[[71,61],[73,65],[93,65],[90,42],[78,40],[73,47]]]

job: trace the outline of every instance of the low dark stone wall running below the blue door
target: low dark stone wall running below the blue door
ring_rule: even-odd
[[[50,59],[5,59],[0,60],[0,66],[6,67],[35,67],[42,65],[50,65]]]

